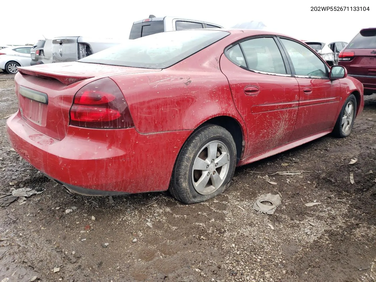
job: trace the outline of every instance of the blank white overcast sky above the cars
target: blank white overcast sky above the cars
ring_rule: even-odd
[[[266,30],[309,41],[349,42],[360,29],[376,26],[376,2],[297,0],[2,0],[0,44],[35,43],[57,36],[127,39],[133,21],[150,14],[205,20],[231,27],[262,21]],[[17,3],[17,5],[15,5]],[[224,4],[221,4],[224,3]],[[366,6],[370,11],[315,12],[311,6]]]

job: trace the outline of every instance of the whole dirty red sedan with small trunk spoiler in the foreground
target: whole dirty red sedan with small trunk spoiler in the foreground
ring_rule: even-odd
[[[14,149],[85,195],[222,193],[236,166],[350,134],[362,84],[303,42],[262,30],[179,30],[77,62],[21,67]]]

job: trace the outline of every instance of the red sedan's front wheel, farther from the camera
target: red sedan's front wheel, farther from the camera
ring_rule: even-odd
[[[347,97],[337,122],[333,129],[333,135],[344,138],[350,135],[356,117],[356,98],[354,94]]]

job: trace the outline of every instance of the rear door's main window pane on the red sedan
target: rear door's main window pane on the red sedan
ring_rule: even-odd
[[[250,70],[286,74],[282,55],[273,38],[254,38],[240,43]]]

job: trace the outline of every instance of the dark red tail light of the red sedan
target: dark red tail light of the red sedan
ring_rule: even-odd
[[[109,77],[90,82],[76,93],[70,124],[101,129],[134,126],[123,94]]]

